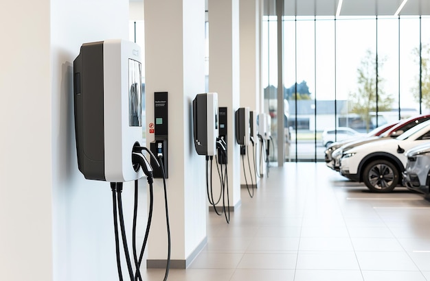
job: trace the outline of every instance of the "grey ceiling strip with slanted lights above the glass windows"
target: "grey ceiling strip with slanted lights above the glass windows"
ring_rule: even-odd
[[[275,15],[276,0],[264,0],[264,14]],[[284,0],[285,16],[335,16],[339,0]],[[339,16],[393,16],[403,0],[343,0]],[[430,0],[409,0],[400,16],[430,15]]]

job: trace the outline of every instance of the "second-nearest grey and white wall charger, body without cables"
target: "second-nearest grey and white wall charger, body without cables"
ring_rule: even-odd
[[[197,94],[192,101],[192,119],[197,154],[215,156],[218,137],[218,94]]]

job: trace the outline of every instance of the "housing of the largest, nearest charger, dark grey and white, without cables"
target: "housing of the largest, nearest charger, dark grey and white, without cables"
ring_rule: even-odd
[[[142,143],[142,52],[126,40],[85,43],[73,62],[76,148],[85,178],[127,182]]]

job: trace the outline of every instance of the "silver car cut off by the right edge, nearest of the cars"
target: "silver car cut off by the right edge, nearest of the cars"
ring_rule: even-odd
[[[406,151],[406,169],[403,172],[403,185],[429,196],[430,181],[430,142]]]

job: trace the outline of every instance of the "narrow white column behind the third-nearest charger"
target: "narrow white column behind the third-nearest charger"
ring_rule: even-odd
[[[261,0],[240,0],[240,107],[249,107],[251,111],[260,112],[260,3]],[[256,128],[257,129],[257,128]],[[253,159],[258,161],[260,142],[255,138],[255,145],[247,148],[245,157],[245,173],[240,161],[240,185],[244,187],[251,182],[256,186],[259,178],[254,172]],[[249,155],[248,155],[249,153]],[[249,163],[251,172],[249,171]],[[245,179],[246,176],[246,179]],[[252,178],[251,178],[252,177]],[[251,181],[252,179],[252,181]]]

